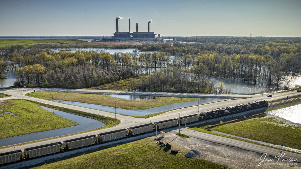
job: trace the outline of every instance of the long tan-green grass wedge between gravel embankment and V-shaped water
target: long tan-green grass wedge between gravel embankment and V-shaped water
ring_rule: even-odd
[[[143,110],[157,106],[163,106],[173,103],[181,103],[190,101],[190,98],[184,97],[159,97],[153,100],[126,100],[116,97],[104,96],[101,94],[80,94],[80,93],[60,93],[50,91],[38,91],[35,93],[29,93],[31,97],[37,97],[40,99],[51,100],[53,95],[54,100],[66,100],[82,103],[98,104],[103,106],[115,106],[115,100],[117,101],[116,107],[127,110]],[[26,94],[27,96],[27,94]],[[192,99],[197,100],[197,99]]]

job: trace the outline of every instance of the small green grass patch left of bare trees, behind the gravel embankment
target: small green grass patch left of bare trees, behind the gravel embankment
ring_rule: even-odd
[[[119,90],[119,91],[128,91],[131,90],[131,83],[141,81],[141,78],[147,78],[150,75],[138,76],[135,78],[127,78],[124,80],[114,81],[112,83],[91,87],[88,89],[98,89],[98,90]]]

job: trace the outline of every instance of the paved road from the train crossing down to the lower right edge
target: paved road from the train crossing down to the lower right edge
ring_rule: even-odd
[[[174,131],[178,132],[178,130],[174,130]],[[241,149],[258,152],[261,154],[267,153],[267,155],[271,155],[274,157],[275,157],[275,155],[280,153],[279,149],[274,149],[271,147],[248,143],[245,141],[235,140],[235,139],[231,139],[228,137],[222,137],[222,136],[217,136],[217,135],[213,135],[213,134],[193,131],[193,130],[190,130],[187,128],[183,128],[182,132],[185,132],[185,134],[189,135],[190,137],[195,137],[195,138],[198,138],[201,140],[206,140],[206,141],[210,141],[213,143],[219,143],[219,144],[226,145],[226,146],[238,147]],[[301,162],[301,154],[287,152],[285,150],[283,150],[282,152],[285,153],[284,157],[282,157],[282,158],[294,158],[294,159],[297,159],[298,162]]]

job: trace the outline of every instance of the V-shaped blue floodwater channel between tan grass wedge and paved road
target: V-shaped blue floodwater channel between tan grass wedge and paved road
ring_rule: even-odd
[[[200,99],[199,104],[215,102],[215,101],[219,101],[219,100],[224,100],[224,99],[205,98],[205,99]],[[72,101],[65,101],[65,100],[53,100],[53,101],[115,113],[115,107],[102,106],[102,105],[89,104],[89,103],[81,103],[81,102],[72,102]],[[191,101],[191,103],[190,103],[190,101],[182,102],[182,103],[174,103],[174,104],[158,106],[158,107],[144,109],[144,110],[126,110],[126,109],[116,108],[116,113],[125,114],[125,115],[143,116],[143,115],[147,115],[147,114],[153,114],[153,113],[164,112],[164,111],[173,110],[173,109],[177,109],[177,108],[187,107],[190,105],[197,105],[197,100]],[[115,105],[112,105],[112,106],[115,106]]]

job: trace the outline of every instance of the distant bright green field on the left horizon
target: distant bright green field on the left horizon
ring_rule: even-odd
[[[79,42],[85,42],[78,40]],[[76,42],[76,39],[0,39],[0,47],[10,45],[33,45],[32,43]]]

